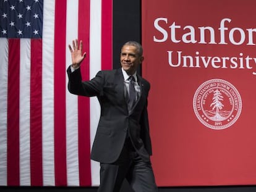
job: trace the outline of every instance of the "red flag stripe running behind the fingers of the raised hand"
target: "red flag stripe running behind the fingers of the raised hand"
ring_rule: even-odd
[[[79,32],[78,38],[83,41],[83,50],[87,52],[87,58],[81,67],[83,80],[90,78],[90,1],[79,0]],[[79,180],[80,186],[91,186],[90,167],[90,99],[83,96],[78,98],[79,118]]]

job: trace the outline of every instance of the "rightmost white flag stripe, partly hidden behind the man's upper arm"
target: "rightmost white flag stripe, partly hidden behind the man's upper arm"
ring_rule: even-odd
[[[101,70],[101,0],[90,1],[90,79]],[[91,148],[100,119],[100,104],[96,97],[90,98]],[[91,161],[92,186],[100,184],[100,165]]]

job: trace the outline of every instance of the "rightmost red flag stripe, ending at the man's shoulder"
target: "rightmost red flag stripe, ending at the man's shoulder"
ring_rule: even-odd
[[[101,69],[112,69],[113,0],[101,1]]]

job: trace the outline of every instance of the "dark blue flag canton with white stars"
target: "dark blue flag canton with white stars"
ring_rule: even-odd
[[[43,0],[0,0],[0,38],[42,38]]]

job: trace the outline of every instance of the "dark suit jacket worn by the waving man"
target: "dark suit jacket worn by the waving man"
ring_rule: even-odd
[[[91,158],[103,163],[116,161],[128,131],[136,151],[142,154],[145,161],[149,161],[148,155],[152,153],[147,113],[150,83],[137,75],[141,96],[129,114],[121,69],[100,71],[90,81],[82,81],[80,69],[71,73],[69,67],[67,73],[70,93],[88,97],[96,96],[100,102],[100,121]]]

